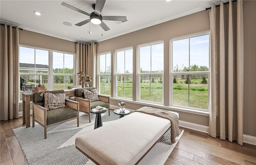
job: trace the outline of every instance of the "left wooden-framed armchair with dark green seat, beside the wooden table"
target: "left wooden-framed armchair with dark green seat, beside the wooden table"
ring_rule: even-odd
[[[79,127],[79,103],[65,99],[64,90],[33,93],[33,120],[44,127],[44,139],[47,138],[47,127],[77,119]],[[46,103],[46,104],[45,104]]]

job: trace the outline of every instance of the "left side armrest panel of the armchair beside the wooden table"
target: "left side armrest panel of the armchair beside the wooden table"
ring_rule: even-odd
[[[37,122],[41,123],[42,125],[46,124],[46,117],[47,117],[47,108],[42,107],[37,103],[33,103],[33,116]]]

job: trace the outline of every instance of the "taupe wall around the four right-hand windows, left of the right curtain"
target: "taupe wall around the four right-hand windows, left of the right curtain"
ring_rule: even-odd
[[[134,67],[133,72],[136,73],[136,47],[139,44],[148,42],[164,41],[164,77],[169,77],[169,43],[170,38],[184,36],[187,34],[193,34],[197,32],[204,32],[210,30],[210,20],[208,12],[202,11],[195,14],[191,14],[182,18],[164,22],[149,28],[138,30],[123,36],[118,36],[103,42],[98,42],[97,53],[111,52],[112,58],[114,50],[126,47],[133,47]],[[122,42],[120,42],[122,41]],[[113,61],[113,60],[112,60]],[[113,65],[111,70],[114,70]],[[113,75],[111,79],[113,80]],[[133,81],[137,82],[136,75],[133,76]],[[170,80],[164,79],[164,105],[168,106],[169,97],[169,82]],[[113,88],[113,84],[111,84]],[[112,93],[113,96],[113,93]],[[133,99],[136,100],[136,83],[133,83]],[[112,105],[118,105],[118,101],[111,99]],[[127,108],[138,109],[144,105],[128,103]],[[164,108],[163,108],[164,109]],[[173,110],[174,111],[174,110]],[[180,114],[180,120],[200,125],[208,126],[209,117],[205,115],[197,115],[186,112],[178,112]]]

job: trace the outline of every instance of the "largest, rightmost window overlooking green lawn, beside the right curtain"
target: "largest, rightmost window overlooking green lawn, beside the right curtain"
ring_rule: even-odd
[[[209,33],[171,40],[171,105],[208,110]]]

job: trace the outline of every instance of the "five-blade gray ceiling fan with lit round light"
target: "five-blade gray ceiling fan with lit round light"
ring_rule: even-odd
[[[82,26],[82,25],[87,24],[88,22],[92,22],[93,24],[99,24],[103,30],[108,31],[108,30],[110,30],[110,28],[108,28],[108,26],[104,22],[102,22],[102,20],[125,22],[126,16],[102,16],[100,13],[104,7],[105,2],[106,2],[106,0],[96,0],[96,3],[92,5],[94,12],[92,12],[91,14],[84,12],[84,11],[82,11],[78,8],[75,8],[74,6],[71,6],[69,4],[66,4],[64,2],[62,2],[61,5],[65,6],[67,8],[70,8],[72,10],[75,10],[77,12],[80,12],[82,14],[85,14],[87,16],[90,16],[90,19],[79,22],[76,24],[76,26]]]

